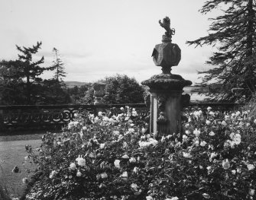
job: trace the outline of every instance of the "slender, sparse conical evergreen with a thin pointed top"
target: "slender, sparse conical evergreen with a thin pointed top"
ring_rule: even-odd
[[[59,51],[56,48],[53,48],[54,60],[53,60],[53,68],[56,69],[54,73],[54,80],[57,84],[63,84],[63,78],[66,77],[66,72],[64,71],[64,64],[60,59]]]

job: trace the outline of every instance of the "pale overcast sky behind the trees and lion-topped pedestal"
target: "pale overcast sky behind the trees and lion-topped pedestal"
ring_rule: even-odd
[[[199,82],[197,71],[205,65],[211,47],[187,46],[186,40],[206,36],[210,15],[199,13],[205,0],[0,0],[0,59],[17,59],[15,45],[42,48],[44,66],[53,62],[53,47],[64,62],[64,81],[97,81],[125,74],[138,82],[160,74],[151,58],[161,43],[170,17],[176,29],[173,43],[181,49],[181,61],[172,73]],[[212,13],[215,15],[215,13]],[[51,78],[48,72],[43,78]]]

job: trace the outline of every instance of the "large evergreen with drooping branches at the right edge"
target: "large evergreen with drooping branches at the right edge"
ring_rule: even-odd
[[[215,99],[235,100],[232,88],[241,87],[241,95],[251,97],[256,85],[256,2],[255,0],[209,0],[201,13],[222,8],[223,14],[211,18],[209,35],[187,41],[190,45],[217,47],[209,58],[214,67],[204,74],[203,84],[209,84]],[[212,86],[212,87],[211,87]]]

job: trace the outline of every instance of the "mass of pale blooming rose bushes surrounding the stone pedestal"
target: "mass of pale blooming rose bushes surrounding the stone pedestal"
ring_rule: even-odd
[[[42,174],[26,199],[253,199],[256,121],[248,112],[184,110],[182,137],[158,140],[129,107],[78,115],[61,134],[44,135],[38,154],[27,147]]]

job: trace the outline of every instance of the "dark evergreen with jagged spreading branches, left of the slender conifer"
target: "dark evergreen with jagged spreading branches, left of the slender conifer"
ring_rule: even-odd
[[[37,61],[32,60],[32,56],[41,49],[42,43],[38,43],[33,47],[20,47],[17,46],[21,55],[18,54],[18,68],[19,68],[19,76],[21,78],[25,78],[25,90],[26,90],[26,99],[28,104],[34,104],[37,101],[37,98],[41,95],[41,90],[37,88],[40,87],[42,82],[42,78],[39,78],[40,75],[44,73],[46,70],[52,69],[51,67],[41,67],[41,64],[44,63],[44,56]]]

